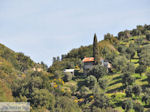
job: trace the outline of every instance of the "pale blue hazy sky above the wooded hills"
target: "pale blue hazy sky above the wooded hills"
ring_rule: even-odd
[[[150,0],[0,0],[0,43],[35,62],[150,24]]]

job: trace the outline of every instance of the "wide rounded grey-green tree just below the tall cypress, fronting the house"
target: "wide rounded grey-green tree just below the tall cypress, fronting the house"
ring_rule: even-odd
[[[107,68],[102,65],[95,65],[88,72],[88,75],[94,75],[97,78],[97,80],[106,74],[107,74]]]

